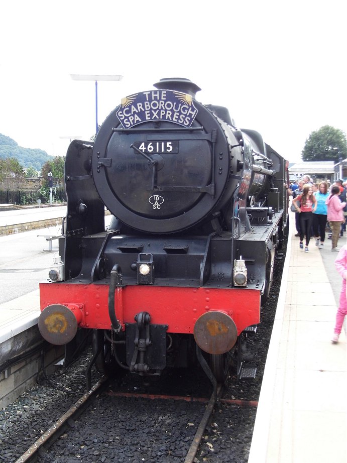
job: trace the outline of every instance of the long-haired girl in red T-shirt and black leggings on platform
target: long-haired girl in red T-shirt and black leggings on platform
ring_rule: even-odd
[[[300,207],[298,203],[300,202]],[[304,236],[306,237],[305,253],[308,253],[308,245],[311,238],[311,226],[313,213],[317,208],[317,200],[313,195],[312,186],[305,185],[302,194],[293,199],[296,210],[300,214],[300,249],[303,249]]]

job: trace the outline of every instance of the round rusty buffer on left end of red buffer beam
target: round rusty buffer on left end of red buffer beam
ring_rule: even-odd
[[[82,311],[75,304],[68,308],[62,304],[47,306],[39,316],[39,330],[44,339],[54,345],[70,342],[82,320]]]

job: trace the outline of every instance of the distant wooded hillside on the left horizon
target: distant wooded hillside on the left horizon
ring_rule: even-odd
[[[15,158],[24,169],[31,166],[37,171],[41,171],[45,162],[53,160],[53,157],[46,151],[37,148],[23,148],[18,146],[12,138],[0,134],[0,159],[6,158]]]

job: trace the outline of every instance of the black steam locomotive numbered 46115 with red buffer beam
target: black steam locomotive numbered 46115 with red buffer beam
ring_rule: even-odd
[[[230,351],[260,322],[288,163],[225,107],[199,103],[198,90],[161,79],[123,98],[94,143],[68,148],[64,237],[40,284],[39,329],[66,353],[92,330],[87,377],[92,365],[159,375],[198,359],[222,382]]]

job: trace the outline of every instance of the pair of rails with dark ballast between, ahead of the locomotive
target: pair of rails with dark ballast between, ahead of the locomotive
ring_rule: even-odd
[[[211,397],[194,397],[194,396],[172,396],[164,394],[151,394],[151,393],[137,393],[137,392],[118,392],[110,389],[108,386],[110,381],[106,377],[102,377],[90,390],[89,393],[84,394],[75,404],[73,404],[62,416],[56,420],[52,426],[49,427],[45,432],[42,433],[41,437],[37,439],[17,460],[16,463],[25,463],[33,461],[70,461],[71,451],[67,451],[68,448],[75,448],[75,457],[79,458],[81,462],[96,462],[96,461],[111,461],[113,457],[112,443],[120,441],[122,446],[122,439],[120,439],[119,428],[123,421],[123,415],[119,417],[119,422],[114,423],[112,428],[112,435],[107,435],[106,431],[101,431],[104,436],[107,437],[103,440],[102,450],[95,449],[94,447],[88,446],[88,444],[81,445],[81,436],[77,430],[83,430],[88,426],[88,422],[94,421],[94,425],[102,430],[103,420],[101,416],[104,413],[104,406],[100,402],[106,402],[109,404],[109,411],[113,415],[117,415],[120,412],[119,408],[127,407],[126,402],[131,401],[132,406],[130,414],[128,415],[128,421],[126,426],[126,432],[128,436],[131,436],[132,440],[138,440],[139,444],[135,445],[132,454],[129,455],[127,461],[181,461],[182,463],[193,463],[200,461],[196,458],[196,455],[204,453],[202,443],[204,443],[210,450],[213,449],[213,444],[205,442],[205,430],[213,419],[213,414],[218,413],[215,411],[216,405],[223,404],[223,406],[246,406],[256,407],[256,401],[243,401],[233,399],[222,398],[222,387],[218,386],[217,394],[212,393]],[[92,411],[89,411],[91,403],[95,402],[95,407]],[[135,413],[134,408],[138,410],[148,410],[149,414],[151,410],[158,409],[157,404],[153,404],[156,401],[160,403],[159,408],[161,411],[170,410],[169,417],[162,416],[162,425],[156,429],[150,424],[151,431],[146,433],[147,438],[150,434],[162,434],[162,438],[151,438],[151,449],[148,454],[148,449],[139,448],[139,445],[143,445],[144,429],[141,423],[143,420],[138,420],[139,416]],[[151,402],[151,403],[150,403]],[[170,405],[168,405],[170,404]],[[179,404],[179,405],[177,405]],[[183,404],[183,405],[182,405]],[[185,407],[184,404],[195,404],[194,407]],[[186,416],[182,420],[182,410],[186,410]],[[90,420],[92,414],[92,419]],[[177,415],[177,416],[176,416]],[[146,416],[146,414],[145,414]],[[99,420],[99,421],[98,421]],[[147,421],[147,418],[146,418]],[[183,423],[183,424],[182,424]],[[174,424],[174,426],[173,426]],[[168,427],[169,425],[169,427]],[[179,429],[181,426],[181,429]],[[179,436],[175,445],[166,446],[166,450],[163,448],[163,441],[167,440],[167,434],[169,429],[179,429]],[[108,433],[109,434],[109,433]],[[177,437],[177,436],[176,436]],[[125,437],[126,438],[126,437]],[[164,438],[164,440],[163,440]],[[57,445],[57,442],[63,440],[63,445]],[[97,440],[97,439],[94,439]],[[169,439],[170,440],[170,439]],[[157,445],[157,447],[156,447]],[[83,449],[88,447],[88,453],[85,453]],[[177,451],[179,449],[179,452]],[[135,452],[135,453],[134,453]],[[147,454],[146,454],[147,452]],[[123,453],[123,452],[121,452]],[[179,454],[178,454],[179,453]],[[65,459],[64,459],[65,454]],[[145,456],[141,457],[142,454]],[[157,455],[157,456],[155,456]],[[134,458],[135,459],[131,459]],[[158,457],[158,458],[157,458]],[[121,457],[122,458],[122,457]],[[123,461],[122,459],[117,461]],[[168,459],[166,459],[168,458]],[[206,458],[204,458],[206,460]],[[202,460],[201,460],[202,461]]]

